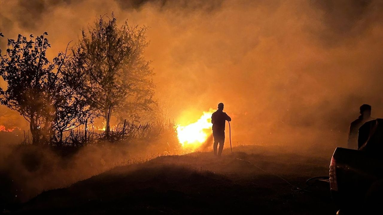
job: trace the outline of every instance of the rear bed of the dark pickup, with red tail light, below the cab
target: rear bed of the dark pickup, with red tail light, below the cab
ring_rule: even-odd
[[[343,211],[364,211],[370,207],[370,198],[376,192],[381,192],[382,175],[382,156],[336,148],[330,165],[330,186],[334,202]]]

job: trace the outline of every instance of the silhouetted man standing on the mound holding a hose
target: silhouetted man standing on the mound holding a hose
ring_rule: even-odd
[[[223,112],[223,103],[218,104],[218,110],[211,115],[211,123],[213,123],[213,137],[214,137],[214,155],[217,155],[217,146],[219,143],[218,156],[221,156],[223,150],[223,143],[225,142],[225,124],[231,121],[231,118]]]

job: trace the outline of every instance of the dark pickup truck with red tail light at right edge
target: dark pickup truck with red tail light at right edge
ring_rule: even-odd
[[[359,150],[336,148],[330,164],[338,214],[383,214],[383,119],[366,122]],[[361,129],[359,135],[361,135]]]

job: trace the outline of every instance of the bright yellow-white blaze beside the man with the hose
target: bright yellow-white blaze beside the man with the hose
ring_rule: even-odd
[[[214,110],[203,112],[200,119],[188,125],[177,125],[177,137],[182,147],[189,150],[196,150],[211,135],[211,114]]]

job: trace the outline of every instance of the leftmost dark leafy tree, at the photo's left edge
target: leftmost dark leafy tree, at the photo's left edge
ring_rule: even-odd
[[[30,124],[32,143],[50,133],[51,95],[48,80],[54,76],[55,65],[46,58],[50,44],[43,35],[30,35],[30,40],[18,35],[8,39],[5,55],[1,55],[0,75],[7,81],[7,89],[0,89],[0,102],[18,111]],[[1,50],[0,50],[1,51]]]

